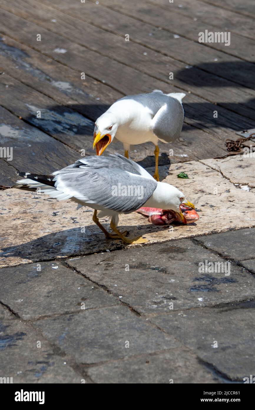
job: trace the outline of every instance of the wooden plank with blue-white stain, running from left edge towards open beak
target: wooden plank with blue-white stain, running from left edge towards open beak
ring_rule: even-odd
[[[78,112],[56,104],[5,73],[0,76],[0,92],[2,106],[70,148],[80,152],[85,149],[85,140],[91,144],[95,125]],[[37,118],[38,112],[41,118]]]

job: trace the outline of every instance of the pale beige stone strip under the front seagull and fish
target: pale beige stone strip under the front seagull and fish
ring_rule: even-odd
[[[189,179],[178,178],[181,171],[188,173]],[[201,162],[173,164],[170,170],[161,166],[160,178],[181,189],[201,210],[199,221],[173,224],[169,229],[167,225],[152,225],[134,212],[120,215],[119,227],[128,230],[130,237],[142,235],[155,243],[255,225],[255,193],[238,189],[219,171]],[[59,202],[43,194],[6,189],[0,192],[0,203],[0,266],[124,247],[119,240],[106,240],[92,221],[92,211],[86,207],[76,211],[72,201]],[[102,223],[110,230],[106,219]]]

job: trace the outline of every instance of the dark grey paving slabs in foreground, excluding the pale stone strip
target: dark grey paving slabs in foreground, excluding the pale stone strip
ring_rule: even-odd
[[[254,239],[251,228],[2,269],[1,376],[241,383],[255,374]],[[228,269],[199,273],[206,261]]]

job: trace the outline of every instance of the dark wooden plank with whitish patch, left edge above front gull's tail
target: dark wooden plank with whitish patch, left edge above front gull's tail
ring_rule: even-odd
[[[8,98],[8,94],[9,90],[1,90],[3,100]],[[12,96],[9,95],[9,98],[12,99]],[[4,159],[7,166],[3,166],[1,160],[3,174],[0,175],[0,185],[3,186],[13,185],[16,181],[14,168],[19,171],[50,173],[79,158],[77,152],[26,124],[3,107],[0,107],[0,141],[2,147],[12,149],[12,160]]]

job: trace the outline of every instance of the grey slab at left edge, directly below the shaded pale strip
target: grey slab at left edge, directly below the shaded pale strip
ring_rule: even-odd
[[[0,301],[24,320],[118,303],[117,298],[60,263],[1,269],[0,282]]]

